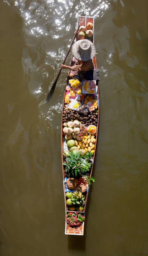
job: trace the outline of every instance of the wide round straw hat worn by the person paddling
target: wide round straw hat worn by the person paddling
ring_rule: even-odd
[[[91,41],[81,39],[72,46],[72,53],[76,59],[88,61],[94,57],[96,49]]]

